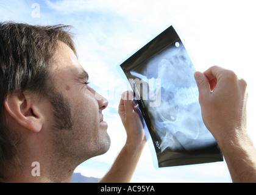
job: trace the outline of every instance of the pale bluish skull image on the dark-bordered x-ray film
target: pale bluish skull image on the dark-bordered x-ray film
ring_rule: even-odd
[[[155,85],[148,87],[149,97],[145,102],[162,152],[166,148],[190,151],[215,142],[202,122],[194,66],[183,45],[175,45],[152,57],[136,74],[140,79],[161,79],[160,90]],[[161,100],[157,107],[149,105],[153,94]]]

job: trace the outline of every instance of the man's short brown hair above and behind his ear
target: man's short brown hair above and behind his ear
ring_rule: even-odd
[[[49,71],[57,41],[67,44],[76,54],[70,28],[0,23],[0,177],[18,159],[18,140],[5,125],[4,100],[13,92],[49,92]]]

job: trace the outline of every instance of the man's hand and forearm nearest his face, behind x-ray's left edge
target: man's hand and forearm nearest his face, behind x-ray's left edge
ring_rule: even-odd
[[[133,110],[132,99],[132,92],[126,91],[122,94],[118,113],[126,129],[127,140],[118,157],[116,157],[112,168],[100,182],[130,182],[140,160],[146,138],[140,116]]]

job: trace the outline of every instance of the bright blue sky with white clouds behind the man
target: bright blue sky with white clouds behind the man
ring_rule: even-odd
[[[35,12],[33,4],[40,6],[40,13]],[[0,20],[73,26],[79,61],[90,74],[91,87],[109,100],[104,119],[112,140],[106,154],[82,163],[76,172],[102,177],[126,140],[117,108],[121,93],[129,86],[116,66],[171,24],[179,31],[197,70],[219,65],[246,79],[248,132],[255,142],[255,8],[254,0],[0,0]],[[148,146],[132,179],[132,182],[230,181],[226,163],[154,169]]]

